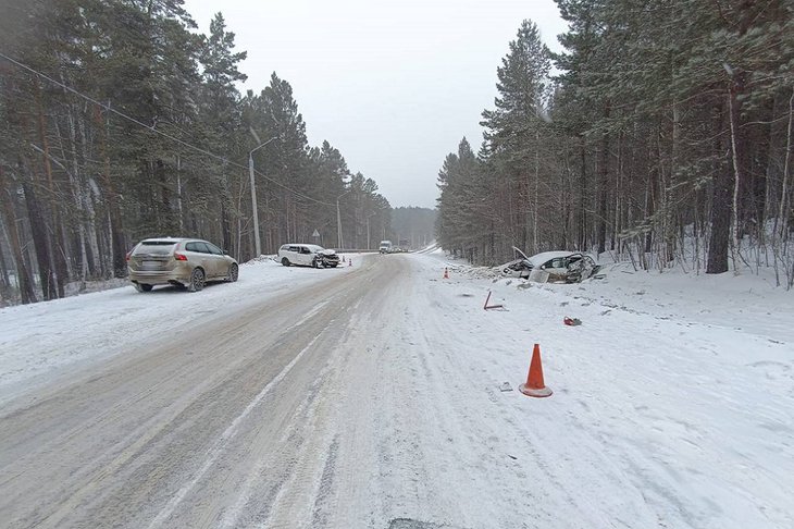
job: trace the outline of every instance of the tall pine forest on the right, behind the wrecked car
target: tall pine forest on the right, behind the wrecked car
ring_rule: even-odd
[[[773,267],[791,287],[794,3],[556,2],[563,51],[524,21],[482,147],[444,161],[443,247],[487,264],[518,246]]]

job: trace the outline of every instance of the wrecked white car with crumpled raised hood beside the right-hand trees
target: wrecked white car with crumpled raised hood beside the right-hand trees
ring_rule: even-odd
[[[595,259],[581,251],[544,251],[526,257],[513,247],[520,256],[500,267],[509,278],[522,278],[537,283],[581,283],[588,278],[603,278],[601,267]]]

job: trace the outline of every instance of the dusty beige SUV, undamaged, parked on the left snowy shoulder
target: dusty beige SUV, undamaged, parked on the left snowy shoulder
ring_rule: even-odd
[[[127,254],[129,281],[138,292],[175,285],[198,292],[208,281],[237,281],[237,261],[200,238],[147,238]]]

